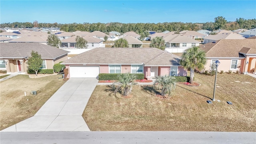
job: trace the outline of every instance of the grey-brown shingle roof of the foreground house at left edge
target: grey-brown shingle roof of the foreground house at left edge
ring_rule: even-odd
[[[0,58],[26,58],[32,50],[41,54],[43,59],[54,59],[68,51],[40,43],[0,43]]]

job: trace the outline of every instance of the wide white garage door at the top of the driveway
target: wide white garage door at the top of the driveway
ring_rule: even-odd
[[[96,78],[100,73],[99,66],[70,66],[70,78]]]

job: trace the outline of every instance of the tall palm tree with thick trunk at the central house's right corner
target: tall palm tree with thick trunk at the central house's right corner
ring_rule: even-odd
[[[185,69],[190,69],[190,84],[194,84],[194,71],[203,70],[206,64],[206,55],[200,47],[195,46],[187,49],[181,56],[180,65]]]

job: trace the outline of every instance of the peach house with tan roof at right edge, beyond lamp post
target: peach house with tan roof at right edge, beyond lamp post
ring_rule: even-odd
[[[220,61],[218,71],[256,74],[256,39],[219,40],[200,46],[206,52],[206,69],[210,70],[216,60]]]

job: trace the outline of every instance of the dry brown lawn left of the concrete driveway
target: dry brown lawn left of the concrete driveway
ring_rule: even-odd
[[[29,78],[28,75],[18,75],[0,82],[0,130],[34,116],[66,82],[60,77]],[[32,90],[36,90],[37,94],[30,94]]]

